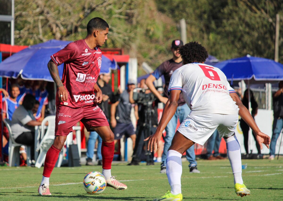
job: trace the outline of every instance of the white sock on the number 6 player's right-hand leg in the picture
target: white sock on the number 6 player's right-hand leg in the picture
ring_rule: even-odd
[[[241,148],[235,135],[225,139],[227,155],[234,175],[234,184],[243,184]]]

